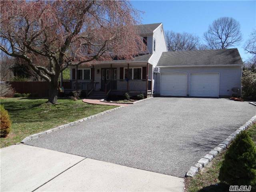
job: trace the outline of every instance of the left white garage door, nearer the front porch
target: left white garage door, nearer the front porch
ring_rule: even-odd
[[[162,96],[187,96],[187,74],[161,74]]]

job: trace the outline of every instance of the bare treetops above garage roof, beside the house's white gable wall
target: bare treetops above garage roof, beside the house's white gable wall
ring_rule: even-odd
[[[165,35],[168,51],[196,50],[199,45],[199,37],[190,33],[167,31]]]

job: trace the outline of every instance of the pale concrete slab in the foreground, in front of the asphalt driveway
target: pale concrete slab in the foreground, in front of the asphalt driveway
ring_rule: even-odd
[[[28,145],[0,149],[4,191],[171,191],[184,179]]]

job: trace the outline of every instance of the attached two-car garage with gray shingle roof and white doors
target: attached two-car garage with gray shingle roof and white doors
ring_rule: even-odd
[[[242,87],[237,49],[162,52],[156,67],[156,96],[230,97]]]

